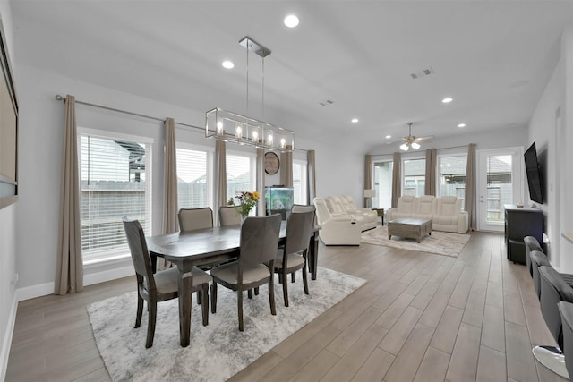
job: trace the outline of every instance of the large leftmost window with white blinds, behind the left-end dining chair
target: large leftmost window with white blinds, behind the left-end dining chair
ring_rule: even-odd
[[[81,250],[84,263],[129,253],[122,217],[151,227],[151,140],[80,132]],[[104,135],[105,134],[105,135]]]

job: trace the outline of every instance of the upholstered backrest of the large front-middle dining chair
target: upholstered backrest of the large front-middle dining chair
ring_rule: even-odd
[[[241,225],[239,264],[269,263],[277,255],[280,214],[249,216]]]

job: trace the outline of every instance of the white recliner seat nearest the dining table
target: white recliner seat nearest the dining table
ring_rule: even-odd
[[[330,214],[326,201],[314,198],[316,217],[321,225],[319,237],[325,245],[360,245],[361,226],[355,218],[344,214]]]

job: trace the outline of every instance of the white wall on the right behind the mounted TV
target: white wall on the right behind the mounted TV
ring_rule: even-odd
[[[548,256],[561,272],[573,272],[573,244],[561,238],[573,232],[573,202],[570,198],[573,159],[573,27],[561,36],[560,61],[539,99],[529,123],[528,141],[535,142],[543,157],[544,203],[539,206],[545,216],[544,231],[549,238]],[[562,146],[561,146],[562,145]],[[558,157],[558,150],[563,149]],[[563,198],[560,198],[560,191]]]

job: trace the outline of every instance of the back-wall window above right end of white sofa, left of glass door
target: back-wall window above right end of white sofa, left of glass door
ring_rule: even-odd
[[[466,198],[467,156],[438,157],[438,196],[457,196],[462,199],[462,210]]]

